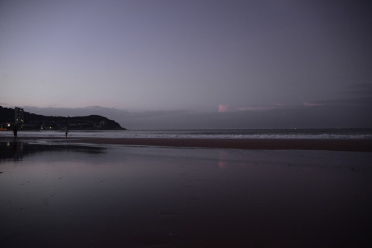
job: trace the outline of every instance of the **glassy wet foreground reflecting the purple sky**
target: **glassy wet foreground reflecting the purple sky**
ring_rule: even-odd
[[[368,247],[372,153],[0,143],[1,247]]]

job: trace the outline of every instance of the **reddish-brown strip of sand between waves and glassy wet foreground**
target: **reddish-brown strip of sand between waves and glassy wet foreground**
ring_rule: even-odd
[[[10,138],[0,138],[10,139]],[[69,143],[112,145],[149,145],[166,147],[205,147],[229,149],[303,149],[349,152],[372,152],[369,139],[225,139],[225,138],[45,138],[23,137],[21,140],[54,139]]]

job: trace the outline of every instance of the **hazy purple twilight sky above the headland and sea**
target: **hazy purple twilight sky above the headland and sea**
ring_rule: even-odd
[[[0,1],[0,105],[130,129],[372,127],[369,1]]]

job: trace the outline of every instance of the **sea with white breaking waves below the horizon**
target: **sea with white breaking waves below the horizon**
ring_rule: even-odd
[[[58,131],[19,131],[18,136],[64,137]],[[12,136],[11,131],[1,131],[1,136]],[[268,138],[268,139],[371,139],[372,129],[273,129],[273,130],[71,130],[68,137],[77,138]]]

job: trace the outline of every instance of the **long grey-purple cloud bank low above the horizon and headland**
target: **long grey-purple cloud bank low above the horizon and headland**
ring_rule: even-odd
[[[219,112],[190,110],[131,112],[99,106],[84,108],[23,106],[23,108],[27,112],[47,116],[99,114],[117,121],[121,127],[129,130],[372,127],[372,96],[305,102],[292,106],[219,105],[221,110]]]

